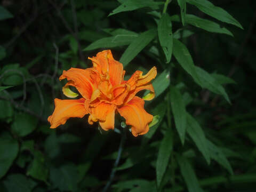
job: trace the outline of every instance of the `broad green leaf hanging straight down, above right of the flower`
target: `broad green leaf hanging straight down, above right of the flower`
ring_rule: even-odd
[[[166,63],[169,63],[172,57],[173,46],[172,22],[170,20],[169,14],[164,13],[162,15],[162,18],[158,22],[157,31],[160,45],[162,46],[162,49],[166,57]]]

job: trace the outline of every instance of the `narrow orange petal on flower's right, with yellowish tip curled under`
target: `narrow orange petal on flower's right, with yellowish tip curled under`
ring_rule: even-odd
[[[125,103],[129,102],[131,99],[133,99],[135,97],[135,95],[139,91],[142,91],[142,90],[149,90],[150,91],[149,95],[147,95],[147,97],[143,98],[144,100],[149,101],[151,99],[154,99],[154,97],[155,97],[155,90],[154,90],[153,85],[151,83],[149,83],[149,84],[146,84],[146,85],[138,86],[134,90],[130,91],[128,93],[127,97],[125,98],[124,102]]]

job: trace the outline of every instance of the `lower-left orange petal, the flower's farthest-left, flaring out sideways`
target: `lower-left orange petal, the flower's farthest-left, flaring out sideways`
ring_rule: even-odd
[[[51,128],[56,128],[61,124],[65,124],[70,117],[82,118],[85,114],[89,113],[84,98],[75,100],[54,99],[54,103],[55,109],[53,114],[48,117],[48,121],[51,123]]]

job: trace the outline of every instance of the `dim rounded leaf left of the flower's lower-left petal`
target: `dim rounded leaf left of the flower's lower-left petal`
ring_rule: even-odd
[[[18,113],[11,125],[12,131],[19,137],[25,137],[36,129],[38,119],[26,113]]]

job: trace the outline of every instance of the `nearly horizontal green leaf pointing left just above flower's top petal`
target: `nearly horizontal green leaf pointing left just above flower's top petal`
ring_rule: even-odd
[[[113,37],[104,37],[91,43],[89,46],[85,47],[83,51],[129,45],[136,37],[137,35],[115,35]]]

